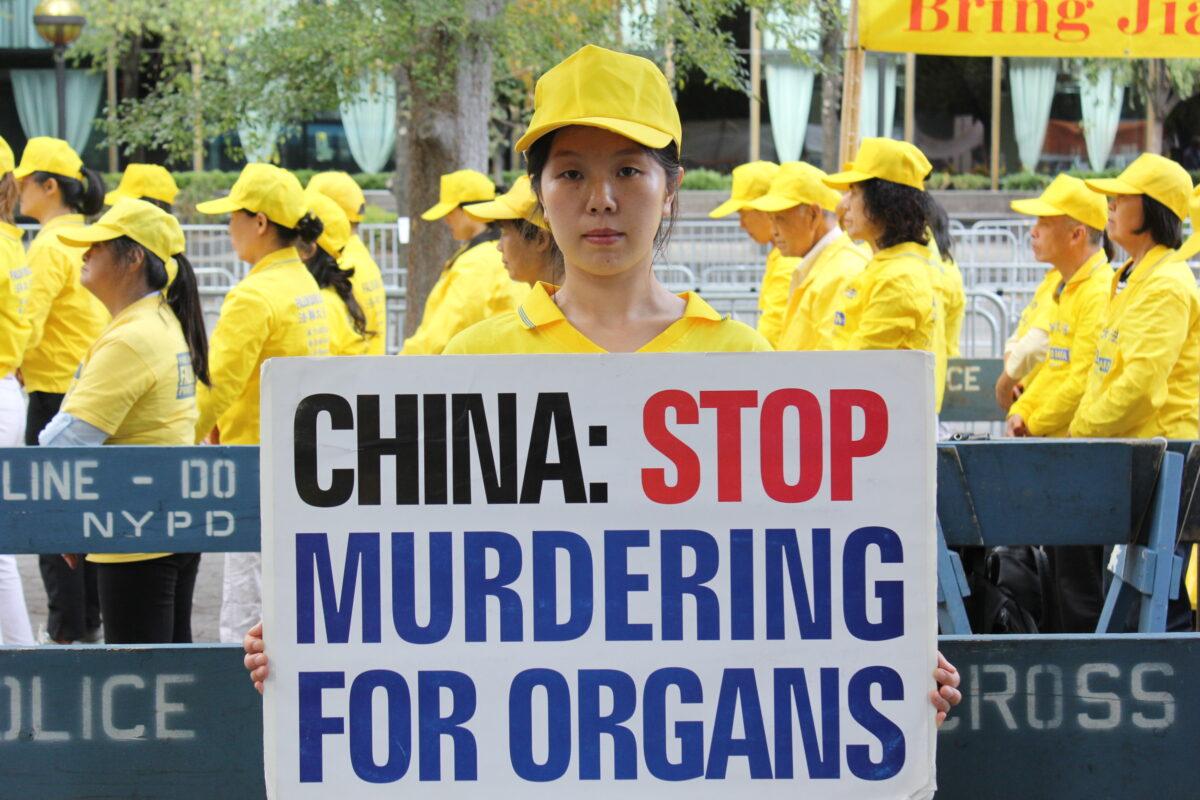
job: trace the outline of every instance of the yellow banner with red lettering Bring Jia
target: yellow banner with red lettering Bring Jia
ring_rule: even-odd
[[[1200,0],[859,0],[869,50],[1200,58]]]

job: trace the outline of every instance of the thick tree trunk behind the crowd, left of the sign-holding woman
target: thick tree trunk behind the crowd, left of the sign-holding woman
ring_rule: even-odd
[[[500,0],[475,0],[474,22],[486,22],[499,13]],[[492,48],[473,30],[457,48],[445,34],[431,32],[433,52],[456,52],[452,84],[437,88],[427,80],[412,80],[408,127],[408,211],[413,236],[408,246],[404,336],[421,323],[425,299],[442,273],[455,242],[442,222],[424,222],[420,212],[438,201],[444,173],[456,169],[487,172],[487,124],[492,107]],[[439,47],[440,46],[440,47]]]

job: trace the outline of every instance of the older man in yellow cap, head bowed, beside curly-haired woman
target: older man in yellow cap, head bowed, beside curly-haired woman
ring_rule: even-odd
[[[770,190],[750,204],[770,215],[780,252],[799,259],[776,350],[832,350],[834,306],[870,259],[866,248],[838,227],[834,212],[841,194],[826,186],[824,178],[811,164],[784,163]]]

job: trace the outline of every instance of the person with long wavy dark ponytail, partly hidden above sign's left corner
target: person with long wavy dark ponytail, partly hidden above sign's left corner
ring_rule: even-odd
[[[301,239],[300,257],[325,299],[330,355],[370,355],[366,314],[354,296],[354,267],[341,261],[350,240],[350,221],[334,200],[307,190],[308,212],[320,221],[317,239]],[[311,233],[311,231],[310,231]]]

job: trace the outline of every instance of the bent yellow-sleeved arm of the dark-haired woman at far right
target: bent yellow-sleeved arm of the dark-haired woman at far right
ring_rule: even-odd
[[[1146,287],[1126,309],[1116,345],[1121,373],[1097,397],[1080,404],[1070,435],[1121,435],[1163,407],[1171,367],[1188,335],[1187,290],[1170,282]]]

